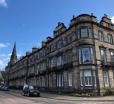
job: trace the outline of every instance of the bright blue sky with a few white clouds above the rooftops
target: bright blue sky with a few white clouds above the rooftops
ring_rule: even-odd
[[[114,0],[0,0],[0,70],[7,65],[14,42],[18,57],[53,36],[58,22],[68,27],[72,16],[107,14],[114,22]]]

